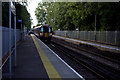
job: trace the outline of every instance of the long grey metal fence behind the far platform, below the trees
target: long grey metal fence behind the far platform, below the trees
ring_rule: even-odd
[[[120,31],[55,31],[55,35],[120,46]]]

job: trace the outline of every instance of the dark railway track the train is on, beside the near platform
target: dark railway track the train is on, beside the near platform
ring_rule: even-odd
[[[57,51],[56,53],[59,53],[58,55],[63,57],[64,59],[69,58],[69,60],[67,60],[67,63],[70,63],[71,65],[71,62],[73,62],[75,65],[77,65],[77,67],[75,65],[72,65],[72,66],[80,74],[82,74],[80,72],[81,70],[79,70],[80,68],[78,68],[80,66],[85,68],[84,71],[86,72],[86,74],[92,74],[92,78],[90,76],[90,77],[86,77],[86,79],[117,80],[120,78],[119,71],[117,69],[113,69],[112,67],[104,65],[100,63],[99,61],[96,61],[95,59],[91,59],[90,57],[86,57],[85,55],[81,54],[81,53],[84,53],[84,54],[89,53],[88,51],[79,50],[78,52],[78,51],[73,50],[73,48],[71,49],[71,48],[66,47],[66,45],[63,45],[62,43],[60,45],[55,42],[51,42],[51,44],[48,44],[48,46],[54,51]],[[94,54],[92,55],[94,56]],[[90,56],[93,57],[92,55]]]

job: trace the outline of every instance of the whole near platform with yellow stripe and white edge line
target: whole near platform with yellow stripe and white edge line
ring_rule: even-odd
[[[2,68],[2,79],[9,79],[9,59]],[[33,34],[17,46],[17,65],[12,54],[13,79],[85,80]]]

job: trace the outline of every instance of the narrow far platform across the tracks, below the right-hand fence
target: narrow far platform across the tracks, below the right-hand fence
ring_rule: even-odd
[[[91,42],[91,41],[83,41],[83,40],[72,39],[72,38],[67,38],[67,37],[57,36],[57,35],[53,35],[53,37],[58,38],[58,39],[63,39],[63,40],[66,40],[68,42],[72,42],[75,44],[86,44],[86,45],[91,45],[91,46],[97,47],[101,50],[120,53],[120,47],[118,47],[118,46],[101,44],[101,43],[96,43],[96,42]]]

